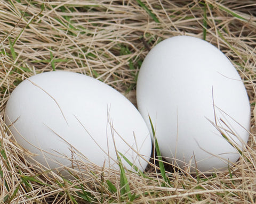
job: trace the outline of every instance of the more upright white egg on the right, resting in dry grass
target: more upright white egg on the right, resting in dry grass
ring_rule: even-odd
[[[148,128],[151,118],[162,156],[190,172],[227,169],[249,138],[243,81],[202,39],[171,37],[151,49],[139,71],[137,103]]]

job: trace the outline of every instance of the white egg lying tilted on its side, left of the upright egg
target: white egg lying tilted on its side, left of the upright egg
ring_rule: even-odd
[[[75,158],[118,169],[117,155],[124,155],[143,171],[151,154],[150,133],[138,110],[115,89],[83,74],[45,72],[22,81],[7,101],[5,121],[17,143],[50,169],[71,167]],[[122,164],[133,170],[125,159]]]

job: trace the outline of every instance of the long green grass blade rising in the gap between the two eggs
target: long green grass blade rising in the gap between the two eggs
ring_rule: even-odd
[[[153,123],[152,123],[151,118],[150,118],[149,115],[148,115],[148,117],[149,117],[149,122],[150,122],[151,130],[152,130],[152,133],[153,133],[153,137],[154,137],[154,145],[155,145],[155,149],[156,149],[156,154],[157,154],[157,158],[158,158],[160,172],[161,172],[161,175],[162,175],[162,177],[165,181],[164,185],[166,186],[167,183],[169,185],[171,185],[170,180],[166,176],[165,167],[164,167],[164,163],[163,163],[163,158],[162,158],[159,146],[158,146],[158,142],[157,142],[157,139],[156,139],[155,129],[154,129]]]

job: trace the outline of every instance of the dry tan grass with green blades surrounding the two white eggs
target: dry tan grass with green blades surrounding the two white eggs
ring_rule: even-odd
[[[31,75],[52,70],[90,75],[135,104],[143,58],[159,41],[177,35],[206,39],[226,54],[244,80],[253,113],[255,11],[253,0],[0,0],[0,202],[255,203],[253,115],[244,156],[229,171],[193,176],[170,169],[164,178],[152,160],[145,173],[125,173],[123,186],[122,171],[93,165],[78,164],[85,171],[72,182],[47,172],[26,159],[33,155],[12,140],[3,121],[12,90]]]

